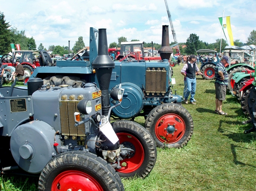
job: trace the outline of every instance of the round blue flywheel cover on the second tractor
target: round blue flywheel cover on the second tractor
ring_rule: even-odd
[[[123,99],[120,106],[115,107],[112,110],[114,116],[121,119],[130,119],[136,117],[138,113],[141,112],[144,103],[144,94],[139,86],[133,83],[122,83],[122,88],[124,88]],[[119,85],[115,86],[115,88]],[[110,105],[113,106],[112,98],[110,98]]]

